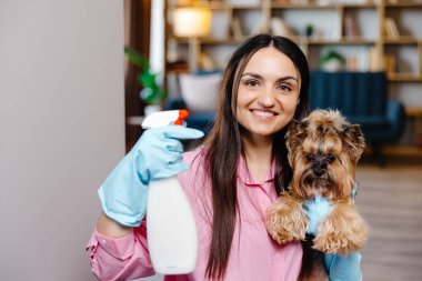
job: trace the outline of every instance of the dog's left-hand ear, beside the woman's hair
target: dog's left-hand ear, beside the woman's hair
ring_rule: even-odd
[[[301,155],[302,143],[307,138],[307,123],[304,121],[292,120],[285,133],[285,145],[288,148],[289,163],[294,165],[293,157]]]

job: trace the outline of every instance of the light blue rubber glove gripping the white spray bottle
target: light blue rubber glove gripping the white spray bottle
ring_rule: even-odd
[[[149,182],[187,170],[179,140],[202,137],[203,132],[181,126],[145,130],[98,191],[104,213],[123,225],[139,227],[145,215]]]

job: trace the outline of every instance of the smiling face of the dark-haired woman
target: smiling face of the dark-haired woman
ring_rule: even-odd
[[[301,78],[293,62],[273,47],[258,50],[240,80],[237,118],[247,138],[271,139],[293,118]]]

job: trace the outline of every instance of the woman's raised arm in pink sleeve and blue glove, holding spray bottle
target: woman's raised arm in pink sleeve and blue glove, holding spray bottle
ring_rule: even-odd
[[[153,274],[143,220],[149,182],[188,169],[180,139],[201,131],[169,126],[147,130],[99,189],[102,204],[89,241],[92,272],[99,280],[129,280]]]

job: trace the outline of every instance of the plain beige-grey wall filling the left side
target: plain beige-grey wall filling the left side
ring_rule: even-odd
[[[97,189],[124,153],[123,1],[0,1],[0,280],[94,280]]]

